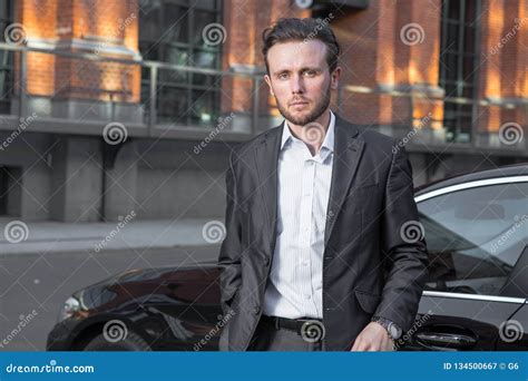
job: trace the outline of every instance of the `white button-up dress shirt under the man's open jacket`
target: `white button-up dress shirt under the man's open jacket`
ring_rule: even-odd
[[[335,117],[312,156],[284,121],[278,156],[277,236],[263,312],[290,319],[323,318],[323,252],[332,180]]]

